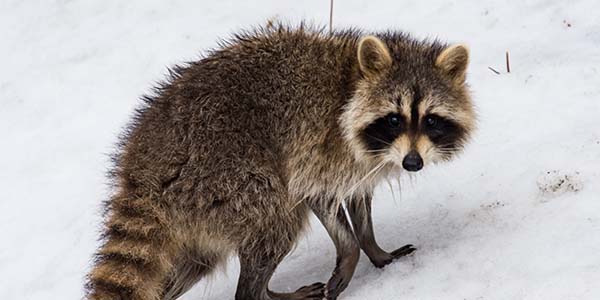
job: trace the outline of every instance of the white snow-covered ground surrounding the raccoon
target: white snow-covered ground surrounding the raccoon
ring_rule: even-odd
[[[273,16],[327,24],[327,2],[0,1],[0,299],[82,297],[107,154],[167,66]],[[395,200],[378,190],[380,243],[419,250],[383,270],[363,256],[341,299],[600,299],[599,9],[336,1],[335,27],[470,45],[480,116],[460,159],[403,179]],[[325,281],[334,262],[313,220],[271,287]],[[238,269],[232,258],[183,299],[232,299]]]

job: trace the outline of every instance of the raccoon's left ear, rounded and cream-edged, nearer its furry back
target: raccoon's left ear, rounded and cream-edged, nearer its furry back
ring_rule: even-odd
[[[358,65],[365,77],[373,77],[392,65],[392,57],[380,39],[369,35],[358,42]]]

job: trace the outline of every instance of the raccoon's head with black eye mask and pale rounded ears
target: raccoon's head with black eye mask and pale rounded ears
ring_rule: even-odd
[[[362,38],[360,79],[341,116],[355,158],[411,172],[452,158],[474,129],[468,62],[463,45],[393,34]]]

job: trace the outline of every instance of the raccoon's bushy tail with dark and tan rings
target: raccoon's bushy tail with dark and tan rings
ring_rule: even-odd
[[[87,277],[86,299],[161,299],[175,257],[165,221],[154,201],[111,199],[104,244]]]

